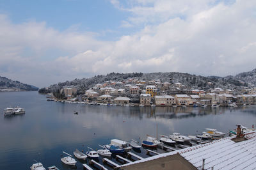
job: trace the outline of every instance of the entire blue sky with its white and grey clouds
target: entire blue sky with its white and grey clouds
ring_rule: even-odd
[[[40,88],[110,72],[256,68],[255,0],[0,0],[0,76]]]

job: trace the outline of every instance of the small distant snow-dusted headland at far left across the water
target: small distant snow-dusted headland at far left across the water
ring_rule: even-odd
[[[0,76],[0,91],[37,91],[38,88]]]

